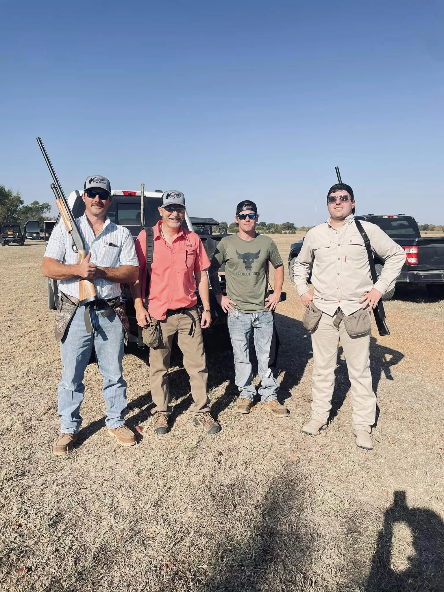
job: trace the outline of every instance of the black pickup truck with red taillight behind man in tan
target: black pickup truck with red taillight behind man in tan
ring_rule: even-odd
[[[444,237],[421,237],[416,220],[406,214],[367,214],[356,216],[356,219],[376,224],[406,252],[406,263],[395,284],[385,292],[382,300],[390,300],[393,297],[395,285],[425,285],[430,295],[444,294]],[[298,256],[302,243],[303,240],[300,240],[290,247],[288,270],[291,281],[294,281],[294,259]],[[378,275],[383,265],[384,261],[375,256]]]

